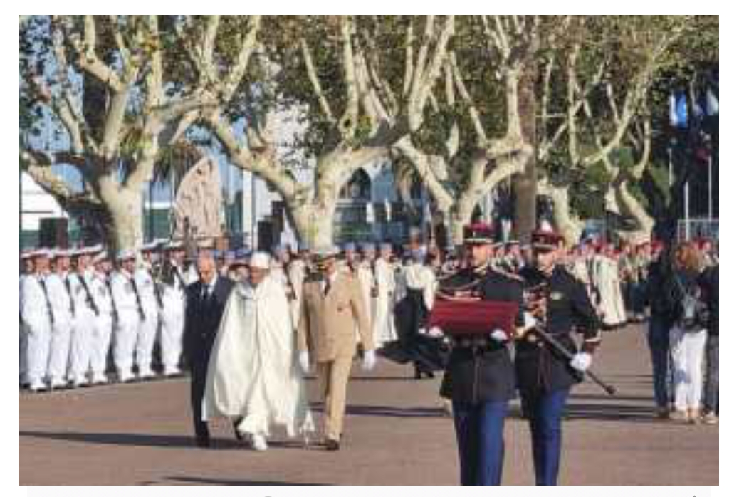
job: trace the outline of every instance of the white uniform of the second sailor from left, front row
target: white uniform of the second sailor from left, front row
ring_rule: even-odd
[[[48,376],[51,386],[65,385],[65,377],[70,359],[70,339],[74,324],[74,301],[70,298],[72,288],[68,283],[70,291],[65,282],[69,273],[52,274],[47,278],[47,290],[52,312],[54,312],[54,325],[52,326],[51,343],[49,349]]]

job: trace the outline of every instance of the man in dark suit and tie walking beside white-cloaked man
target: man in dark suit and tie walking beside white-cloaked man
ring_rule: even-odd
[[[217,274],[214,256],[208,251],[199,254],[196,270],[199,281],[186,287],[183,350],[186,365],[191,372],[191,412],[196,445],[208,447],[209,429],[207,423],[202,421],[202,399],[209,356],[233,282]]]

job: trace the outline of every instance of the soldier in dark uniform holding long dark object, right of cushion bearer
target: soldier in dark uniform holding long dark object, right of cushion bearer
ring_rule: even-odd
[[[532,245],[539,272],[530,272],[534,279],[525,284],[527,288],[541,288],[533,313],[544,320],[547,333],[575,353],[569,362],[533,333],[526,333],[516,347],[517,383],[522,411],[530,421],[536,484],[555,485],[561,452],[561,416],[571,386],[581,381],[582,373],[591,364],[591,354],[600,343],[600,322],[586,288],[557,264],[562,237],[536,231]],[[580,352],[569,335],[571,330],[583,333]]]

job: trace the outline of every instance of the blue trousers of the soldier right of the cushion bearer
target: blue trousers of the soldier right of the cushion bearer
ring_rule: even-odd
[[[561,416],[568,388],[522,397],[522,411],[530,420],[535,483],[557,485],[561,451]]]

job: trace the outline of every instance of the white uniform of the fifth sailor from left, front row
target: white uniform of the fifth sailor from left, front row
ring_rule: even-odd
[[[111,289],[118,315],[114,329],[114,364],[119,380],[126,382],[132,379],[135,345],[143,316],[129,272],[124,270],[116,272],[112,278]],[[144,313],[144,309],[142,312]]]

